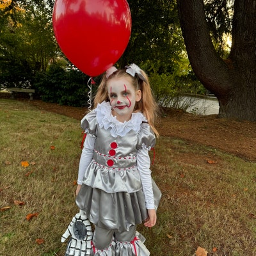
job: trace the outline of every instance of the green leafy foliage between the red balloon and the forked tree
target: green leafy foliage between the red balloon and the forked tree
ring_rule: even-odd
[[[189,65],[176,0],[128,0],[131,38],[118,67],[136,63],[146,70],[157,100],[168,105],[182,92],[205,93]]]

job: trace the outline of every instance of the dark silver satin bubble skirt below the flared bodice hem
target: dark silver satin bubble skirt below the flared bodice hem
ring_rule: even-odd
[[[79,209],[86,212],[94,225],[123,232],[148,217],[142,189],[134,193],[106,193],[82,184],[76,198]]]

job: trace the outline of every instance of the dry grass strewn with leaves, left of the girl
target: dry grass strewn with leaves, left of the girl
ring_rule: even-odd
[[[77,212],[79,122],[11,100],[0,100],[0,108],[0,207],[11,206],[0,212],[0,255],[63,255],[61,233]],[[24,168],[22,161],[30,165]],[[27,221],[26,215],[35,212],[38,217]],[[45,243],[36,244],[39,238]]]

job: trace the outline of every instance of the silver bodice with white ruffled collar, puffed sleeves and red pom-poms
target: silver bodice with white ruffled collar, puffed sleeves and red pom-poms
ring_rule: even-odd
[[[95,137],[93,160],[84,173],[84,184],[108,193],[141,189],[137,170],[138,150],[154,147],[154,132],[142,113],[132,114],[131,120],[118,122],[111,115],[109,102],[102,102],[81,121],[81,127]]]

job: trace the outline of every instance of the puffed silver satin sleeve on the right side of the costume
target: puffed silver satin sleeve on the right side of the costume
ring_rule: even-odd
[[[141,124],[141,130],[138,134],[137,149],[147,148],[150,150],[156,144],[156,136],[148,123]]]

